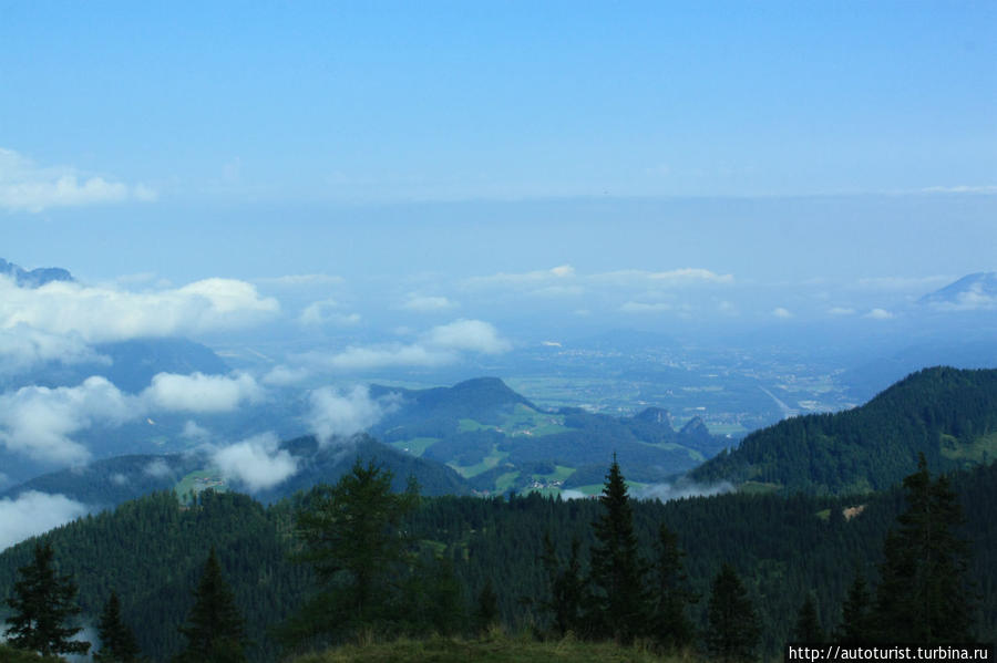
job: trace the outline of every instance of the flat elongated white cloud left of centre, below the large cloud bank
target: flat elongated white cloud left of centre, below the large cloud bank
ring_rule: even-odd
[[[241,403],[255,403],[263,396],[263,387],[246,373],[232,376],[158,373],[142,392],[152,407],[181,412],[232,412]]]

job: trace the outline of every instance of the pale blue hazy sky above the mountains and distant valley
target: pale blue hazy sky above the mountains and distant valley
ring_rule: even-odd
[[[914,297],[994,269],[993,2],[0,2],[0,256],[90,283],[227,277],[349,321],[361,303],[664,313],[648,278]],[[617,272],[629,290],[584,300]],[[277,292],[290,274],[342,281]]]

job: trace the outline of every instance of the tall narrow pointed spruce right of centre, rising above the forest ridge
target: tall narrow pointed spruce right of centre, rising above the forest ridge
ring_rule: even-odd
[[[648,595],[630,498],[615,454],[599,504],[605,512],[593,524],[596,546],[589,576],[594,634],[628,644],[647,631]]]

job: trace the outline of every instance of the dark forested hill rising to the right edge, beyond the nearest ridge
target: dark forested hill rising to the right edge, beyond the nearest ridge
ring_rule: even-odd
[[[925,369],[861,407],[757,431],[691,476],[791,491],[864,493],[911,474],[918,453],[943,472],[997,458],[997,370]]]

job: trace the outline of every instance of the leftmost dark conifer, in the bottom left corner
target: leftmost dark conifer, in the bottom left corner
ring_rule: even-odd
[[[69,576],[55,574],[52,558],[50,543],[35,543],[34,560],[19,569],[21,577],[7,600],[13,614],[7,618],[10,626],[4,635],[10,645],[42,655],[85,654],[89,642],[70,640],[82,628],[64,625],[81,612],[75,604],[76,586]]]

